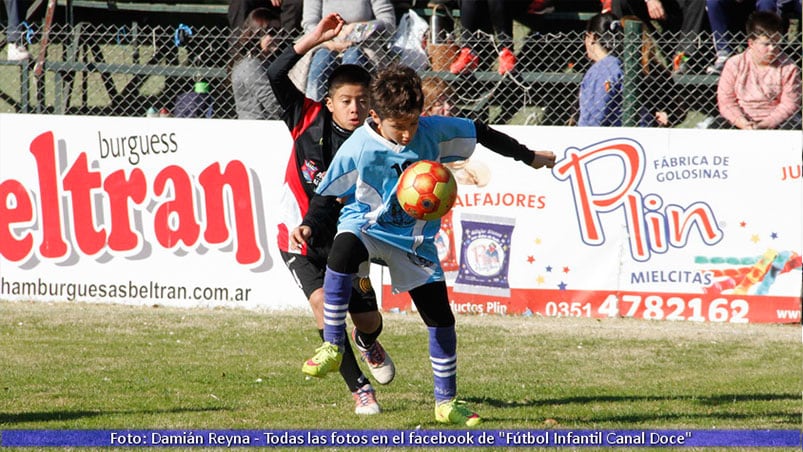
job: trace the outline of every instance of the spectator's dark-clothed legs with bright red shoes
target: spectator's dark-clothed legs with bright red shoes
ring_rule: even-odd
[[[462,25],[463,48],[449,66],[452,74],[472,72],[479,67],[480,56],[486,38],[478,32],[496,38],[498,43],[498,66],[500,75],[512,72],[516,67],[513,53],[513,16],[529,6],[522,0],[464,0],[460,2],[460,25]],[[479,52],[479,53],[478,53]]]

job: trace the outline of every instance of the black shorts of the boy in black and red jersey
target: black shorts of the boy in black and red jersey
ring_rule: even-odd
[[[313,292],[323,287],[328,253],[318,252],[304,256],[282,251],[281,254],[285,265],[290,269],[290,273],[293,274],[293,279],[296,280],[296,284],[304,292],[307,299]],[[376,292],[371,286],[371,280],[368,277],[361,278],[358,275],[352,275],[349,312],[359,314],[376,311],[377,309]]]

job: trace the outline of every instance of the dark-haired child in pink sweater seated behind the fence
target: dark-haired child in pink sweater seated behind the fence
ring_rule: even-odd
[[[800,129],[800,70],[781,52],[783,20],[757,11],[747,20],[747,50],[731,57],[717,85],[712,128]]]

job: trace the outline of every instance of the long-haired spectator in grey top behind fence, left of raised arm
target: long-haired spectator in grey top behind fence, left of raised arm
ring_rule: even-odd
[[[275,10],[256,8],[241,27],[231,61],[231,88],[239,119],[281,119],[267,72],[280,26]]]

